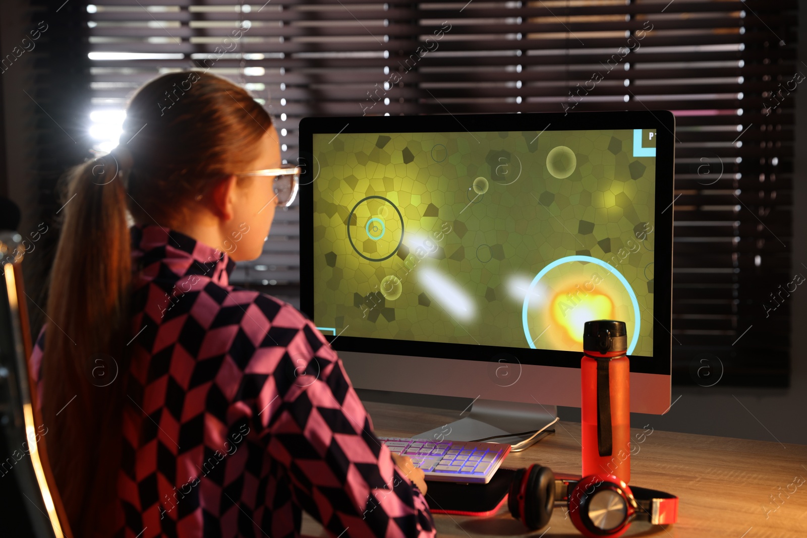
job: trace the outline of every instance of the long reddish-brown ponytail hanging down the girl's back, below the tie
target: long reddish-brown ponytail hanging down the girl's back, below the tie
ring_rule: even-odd
[[[90,536],[105,515],[87,507],[116,498],[129,365],[125,344],[131,332],[126,189],[131,164],[131,156],[118,150],[69,170],[50,275],[42,416],[54,478],[75,536]],[[69,457],[62,453],[67,447]]]

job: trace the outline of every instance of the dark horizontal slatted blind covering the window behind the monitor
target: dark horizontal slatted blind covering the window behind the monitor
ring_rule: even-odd
[[[105,0],[87,9],[98,148],[116,144],[132,90],[191,67],[264,102],[290,162],[309,115],[461,122],[479,112],[673,111],[674,381],[787,384],[792,92],[807,72],[796,58],[797,2]],[[233,280],[294,302],[298,224],[296,203],[278,211],[263,256],[240,263]]]

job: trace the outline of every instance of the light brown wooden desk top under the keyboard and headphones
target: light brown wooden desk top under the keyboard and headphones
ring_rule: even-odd
[[[380,436],[413,436],[459,418],[457,411],[390,403],[365,402],[365,407]],[[648,432],[651,427],[652,423],[646,427]],[[634,429],[631,439],[642,432]],[[579,440],[579,423],[559,422],[554,434],[521,453],[510,454],[502,466],[517,469],[541,463],[558,473],[579,473]],[[636,456],[631,457],[631,484],[678,495],[678,523],[666,528],[633,523],[623,536],[804,538],[805,480],[807,445],[653,430]],[[531,536],[583,536],[563,516],[560,508],[555,509],[548,528]],[[512,519],[507,507],[490,518],[435,514],[434,519],[438,536],[530,535]],[[303,518],[303,534],[327,536],[319,523],[307,515]]]

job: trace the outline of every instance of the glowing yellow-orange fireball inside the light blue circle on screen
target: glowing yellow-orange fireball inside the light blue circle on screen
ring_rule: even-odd
[[[583,327],[592,319],[613,319],[613,301],[596,290],[585,291],[580,286],[568,288],[552,298],[551,317],[563,327],[569,338],[583,343]]]

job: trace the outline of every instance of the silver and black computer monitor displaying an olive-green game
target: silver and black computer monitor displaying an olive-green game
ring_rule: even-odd
[[[305,118],[301,309],[354,386],[474,398],[454,439],[579,407],[591,319],[625,321],[631,411],[663,414],[674,133],[669,111]]]

